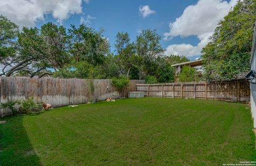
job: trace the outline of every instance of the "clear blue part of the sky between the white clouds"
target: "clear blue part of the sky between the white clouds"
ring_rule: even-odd
[[[169,31],[169,23],[174,22],[183,10],[197,1],[106,1],[98,0],[91,1],[89,4],[83,4],[82,16],[90,15],[95,19],[91,19],[89,26],[99,29],[105,29],[104,35],[109,38],[111,46],[115,43],[117,32],[128,32],[131,40],[134,40],[142,29],[156,29],[157,33],[163,36],[164,32]],[[149,5],[151,10],[156,11],[155,14],[150,14],[146,18],[139,12],[141,5]],[[70,19],[63,22],[63,25],[68,27],[69,24],[79,26],[81,14],[73,15]],[[188,42],[197,44],[198,39],[195,36],[180,38],[175,37],[172,40],[161,40],[163,47],[169,44],[181,44]],[[114,46],[113,46],[114,47]]]

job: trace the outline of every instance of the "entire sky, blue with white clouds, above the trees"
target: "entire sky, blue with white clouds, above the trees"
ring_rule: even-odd
[[[52,21],[66,28],[87,24],[104,36],[115,51],[117,32],[135,40],[143,29],[156,29],[166,55],[195,60],[209,43],[218,22],[237,0],[0,0],[0,14],[20,27]]]

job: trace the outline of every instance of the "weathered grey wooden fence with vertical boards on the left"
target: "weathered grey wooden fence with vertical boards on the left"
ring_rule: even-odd
[[[0,102],[31,96],[34,97],[35,102],[44,101],[52,104],[53,107],[102,101],[109,96],[111,98],[127,96],[129,91],[136,90],[136,83],[145,83],[145,80],[130,80],[123,92],[118,92],[111,85],[110,79],[0,77]],[[7,113],[6,111],[0,109],[0,115]]]

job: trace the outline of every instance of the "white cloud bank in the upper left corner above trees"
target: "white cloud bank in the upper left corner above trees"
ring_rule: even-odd
[[[52,14],[61,23],[71,14],[81,13],[82,0],[0,0],[0,9],[0,14],[19,26],[34,27],[36,21],[44,20],[45,14]]]

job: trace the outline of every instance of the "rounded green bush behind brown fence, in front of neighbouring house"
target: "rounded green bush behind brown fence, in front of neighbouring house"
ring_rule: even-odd
[[[196,69],[188,66],[183,66],[182,70],[179,74],[179,81],[180,82],[192,82],[198,81],[196,76]]]

